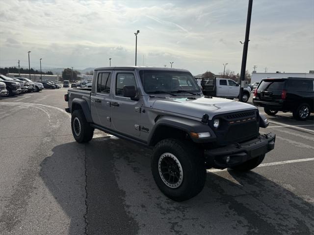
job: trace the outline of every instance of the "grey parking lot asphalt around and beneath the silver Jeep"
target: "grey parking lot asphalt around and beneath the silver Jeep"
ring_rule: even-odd
[[[267,116],[277,139],[260,167],[209,169],[178,203],[155,185],[151,150],[101,131],[77,143],[66,92],[0,98],[0,234],[314,234],[313,115]]]

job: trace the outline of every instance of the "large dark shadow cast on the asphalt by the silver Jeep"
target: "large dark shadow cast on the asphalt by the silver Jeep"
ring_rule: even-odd
[[[254,171],[208,173],[203,191],[178,203],[155,185],[149,149],[101,137],[52,152],[40,176],[71,219],[71,235],[314,232],[314,206]]]

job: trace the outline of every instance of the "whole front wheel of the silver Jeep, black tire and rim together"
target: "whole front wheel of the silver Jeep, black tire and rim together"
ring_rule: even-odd
[[[192,144],[176,139],[158,142],[151,168],[158,188],[172,200],[188,200],[204,188],[205,162],[202,152]]]

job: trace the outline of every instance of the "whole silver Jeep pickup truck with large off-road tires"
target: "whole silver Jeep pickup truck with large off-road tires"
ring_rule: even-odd
[[[206,169],[251,170],[275,145],[274,134],[259,133],[268,122],[255,106],[204,96],[187,70],[98,68],[91,88],[64,98],[79,143],[96,128],[153,148],[154,180],[175,201],[203,189]]]

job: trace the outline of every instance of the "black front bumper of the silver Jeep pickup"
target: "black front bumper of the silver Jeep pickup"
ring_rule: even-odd
[[[251,141],[209,149],[204,153],[206,163],[218,169],[236,166],[273,150],[275,140],[276,135],[268,133]],[[227,163],[228,157],[230,160]]]

